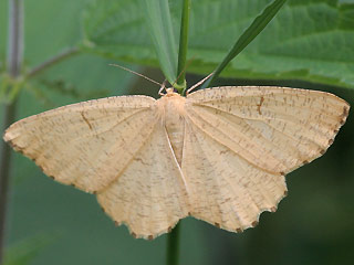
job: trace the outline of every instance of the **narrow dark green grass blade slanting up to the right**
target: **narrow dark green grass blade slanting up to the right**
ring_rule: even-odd
[[[261,14],[259,14],[252,22],[252,24],[247,28],[242,35],[237,40],[235,45],[231,47],[229,53],[214,71],[212,77],[207,81],[202,87],[207,87],[209,84],[212,84],[225,70],[225,67],[233,60],[254,38],[264,30],[268,23],[274,18],[281,7],[287,2],[287,0],[274,0],[269,4]]]

